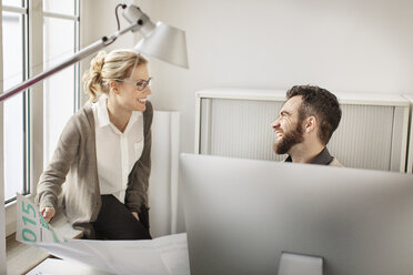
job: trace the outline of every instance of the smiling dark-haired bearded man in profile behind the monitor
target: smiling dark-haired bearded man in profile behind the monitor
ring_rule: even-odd
[[[341,120],[334,94],[312,85],[294,85],[286,92],[280,118],[271,126],[276,134],[273,150],[289,154],[285,162],[342,166],[326,144]]]

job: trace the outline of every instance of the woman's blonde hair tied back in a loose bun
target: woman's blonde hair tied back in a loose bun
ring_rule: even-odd
[[[90,61],[83,74],[83,90],[89,93],[89,102],[94,102],[99,93],[109,93],[109,82],[127,79],[135,65],[147,64],[148,60],[132,50],[100,51]]]

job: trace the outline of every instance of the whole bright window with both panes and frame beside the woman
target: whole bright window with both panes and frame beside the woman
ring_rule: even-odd
[[[2,1],[4,91],[79,51],[79,2]],[[4,102],[7,207],[12,207],[16,192],[29,194],[36,189],[39,171],[49,162],[63,126],[79,108],[79,64],[73,64]],[[7,234],[13,227],[8,211]]]

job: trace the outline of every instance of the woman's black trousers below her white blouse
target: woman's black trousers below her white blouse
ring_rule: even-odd
[[[149,212],[143,205],[138,221],[113,195],[101,195],[102,207],[92,226],[97,240],[150,240]]]

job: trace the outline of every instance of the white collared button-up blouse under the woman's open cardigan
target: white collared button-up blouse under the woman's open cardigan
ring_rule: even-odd
[[[134,111],[122,133],[109,120],[107,96],[92,104],[100,193],[112,194],[121,203],[128,187],[128,175],[143,150],[143,115]]]

